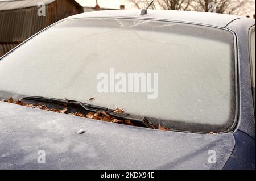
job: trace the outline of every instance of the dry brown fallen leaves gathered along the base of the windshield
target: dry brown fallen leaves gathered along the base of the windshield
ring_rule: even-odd
[[[88,100],[93,100],[94,98],[90,98]],[[5,100],[5,102],[8,103],[14,103],[13,98],[9,98],[8,100]],[[58,112],[58,113],[65,113],[68,115],[72,116],[78,116],[78,117],[86,117],[89,119],[94,119],[94,120],[101,120],[101,121],[106,121],[106,122],[111,122],[111,123],[117,123],[117,124],[126,124],[126,125],[134,125],[131,120],[125,119],[118,119],[118,117],[110,116],[108,113],[105,111],[100,111],[100,112],[88,112],[86,115],[81,112],[71,112],[68,113],[68,108],[65,107],[62,110],[58,110],[55,108],[48,108],[46,105],[38,103],[36,105],[34,104],[28,104],[28,103],[23,103],[22,100],[17,100],[15,104],[18,104],[20,106],[26,106],[26,107],[32,107],[32,108],[38,108],[40,110],[46,110],[46,111],[52,111],[52,112]],[[114,108],[115,113],[124,113],[125,111],[121,108],[115,107]],[[162,131],[170,131],[170,129],[162,127],[160,124],[158,125],[158,129]]]

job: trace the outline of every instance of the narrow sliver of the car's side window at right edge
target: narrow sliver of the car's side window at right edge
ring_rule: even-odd
[[[251,57],[251,77],[253,78],[253,99],[254,99],[254,112],[255,112],[255,27],[251,31],[250,37],[250,57]]]

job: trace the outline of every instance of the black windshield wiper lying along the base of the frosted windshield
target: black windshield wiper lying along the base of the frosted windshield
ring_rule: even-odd
[[[23,96],[22,99],[24,100],[34,100],[39,102],[47,102],[47,103],[53,103],[53,104],[67,104],[67,105],[77,105],[86,111],[92,111],[92,112],[106,112],[108,115],[119,117],[122,119],[129,119],[133,121],[138,121],[148,128],[154,128],[154,125],[148,121],[148,119],[144,116],[138,116],[138,115],[131,115],[129,113],[118,113],[114,112],[115,110],[107,108],[107,107],[101,107],[101,106],[95,106],[92,104],[82,103],[80,101],[76,100],[69,100],[69,99],[55,99],[55,98],[47,98],[42,96]]]

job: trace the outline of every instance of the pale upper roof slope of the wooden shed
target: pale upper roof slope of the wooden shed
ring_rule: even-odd
[[[38,6],[38,3],[48,5],[55,0],[18,0],[18,1],[2,1],[0,2],[0,11],[22,9],[26,7]]]

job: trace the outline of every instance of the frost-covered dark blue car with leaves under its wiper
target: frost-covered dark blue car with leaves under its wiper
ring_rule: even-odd
[[[0,77],[0,169],[255,169],[255,19],[77,14]]]

